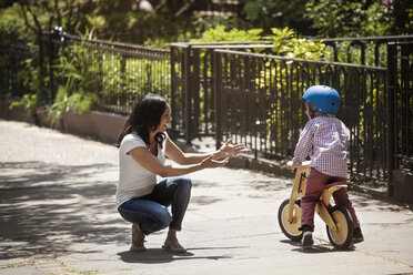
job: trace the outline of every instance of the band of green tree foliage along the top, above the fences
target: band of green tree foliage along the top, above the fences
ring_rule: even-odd
[[[143,9],[142,3],[148,7]],[[215,3],[216,6],[216,3]],[[73,34],[94,30],[100,39],[168,47],[189,41],[209,29],[296,30],[321,38],[412,33],[411,0],[240,0],[238,10],[200,16],[210,0],[3,0],[0,4],[1,41],[34,41],[56,26]],[[221,2],[220,11],[225,11]]]

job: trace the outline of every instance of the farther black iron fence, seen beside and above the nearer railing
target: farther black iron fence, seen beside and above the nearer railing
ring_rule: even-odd
[[[328,61],[386,67],[387,43],[413,41],[413,35],[314,39],[326,44]],[[184,133],[187,143],[202,135],[214,133],[213,78],[214,50],[240,50],[270,53],[271,41],[233,43],[172,43],[171,44],[171,94],[175,113],[173,129]]]

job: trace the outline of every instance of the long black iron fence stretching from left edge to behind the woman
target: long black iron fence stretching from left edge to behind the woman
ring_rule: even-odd
[[[95,94],[99,108],[119,113],[129,113],[145,93],[171,98],[169,50],[80,38],[59,28],[38,42],[0,45],[1,94],[41,90],[52,103],[60,90],[81,91]]]

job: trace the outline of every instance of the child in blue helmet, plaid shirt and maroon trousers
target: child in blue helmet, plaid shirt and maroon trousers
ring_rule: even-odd
[[[313,245],[314,207],[320,200],[324,185],[332,182],[347,181],[347,150],[349,130],[344,123],[335,118],[340,109],[339,92],[326,85],[310,86],[302,96],[305,101],[305,124],[294,157],[286,165],[295,169],[310,155],[310,174],[306,179],[304,196],[301,200],[301,231],[302,246]],[[333,193],[336,205],[345,206],[353,218],[353,243],[364,241],[360,222],[349,198],[346,189]]]

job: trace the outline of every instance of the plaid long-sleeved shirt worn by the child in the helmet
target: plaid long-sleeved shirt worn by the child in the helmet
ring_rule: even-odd
[[[311,157],[311,167],[323,174],[347,177],[349,130],[334,116],[316,116],[310,120],[296,143],[294,162]]]

